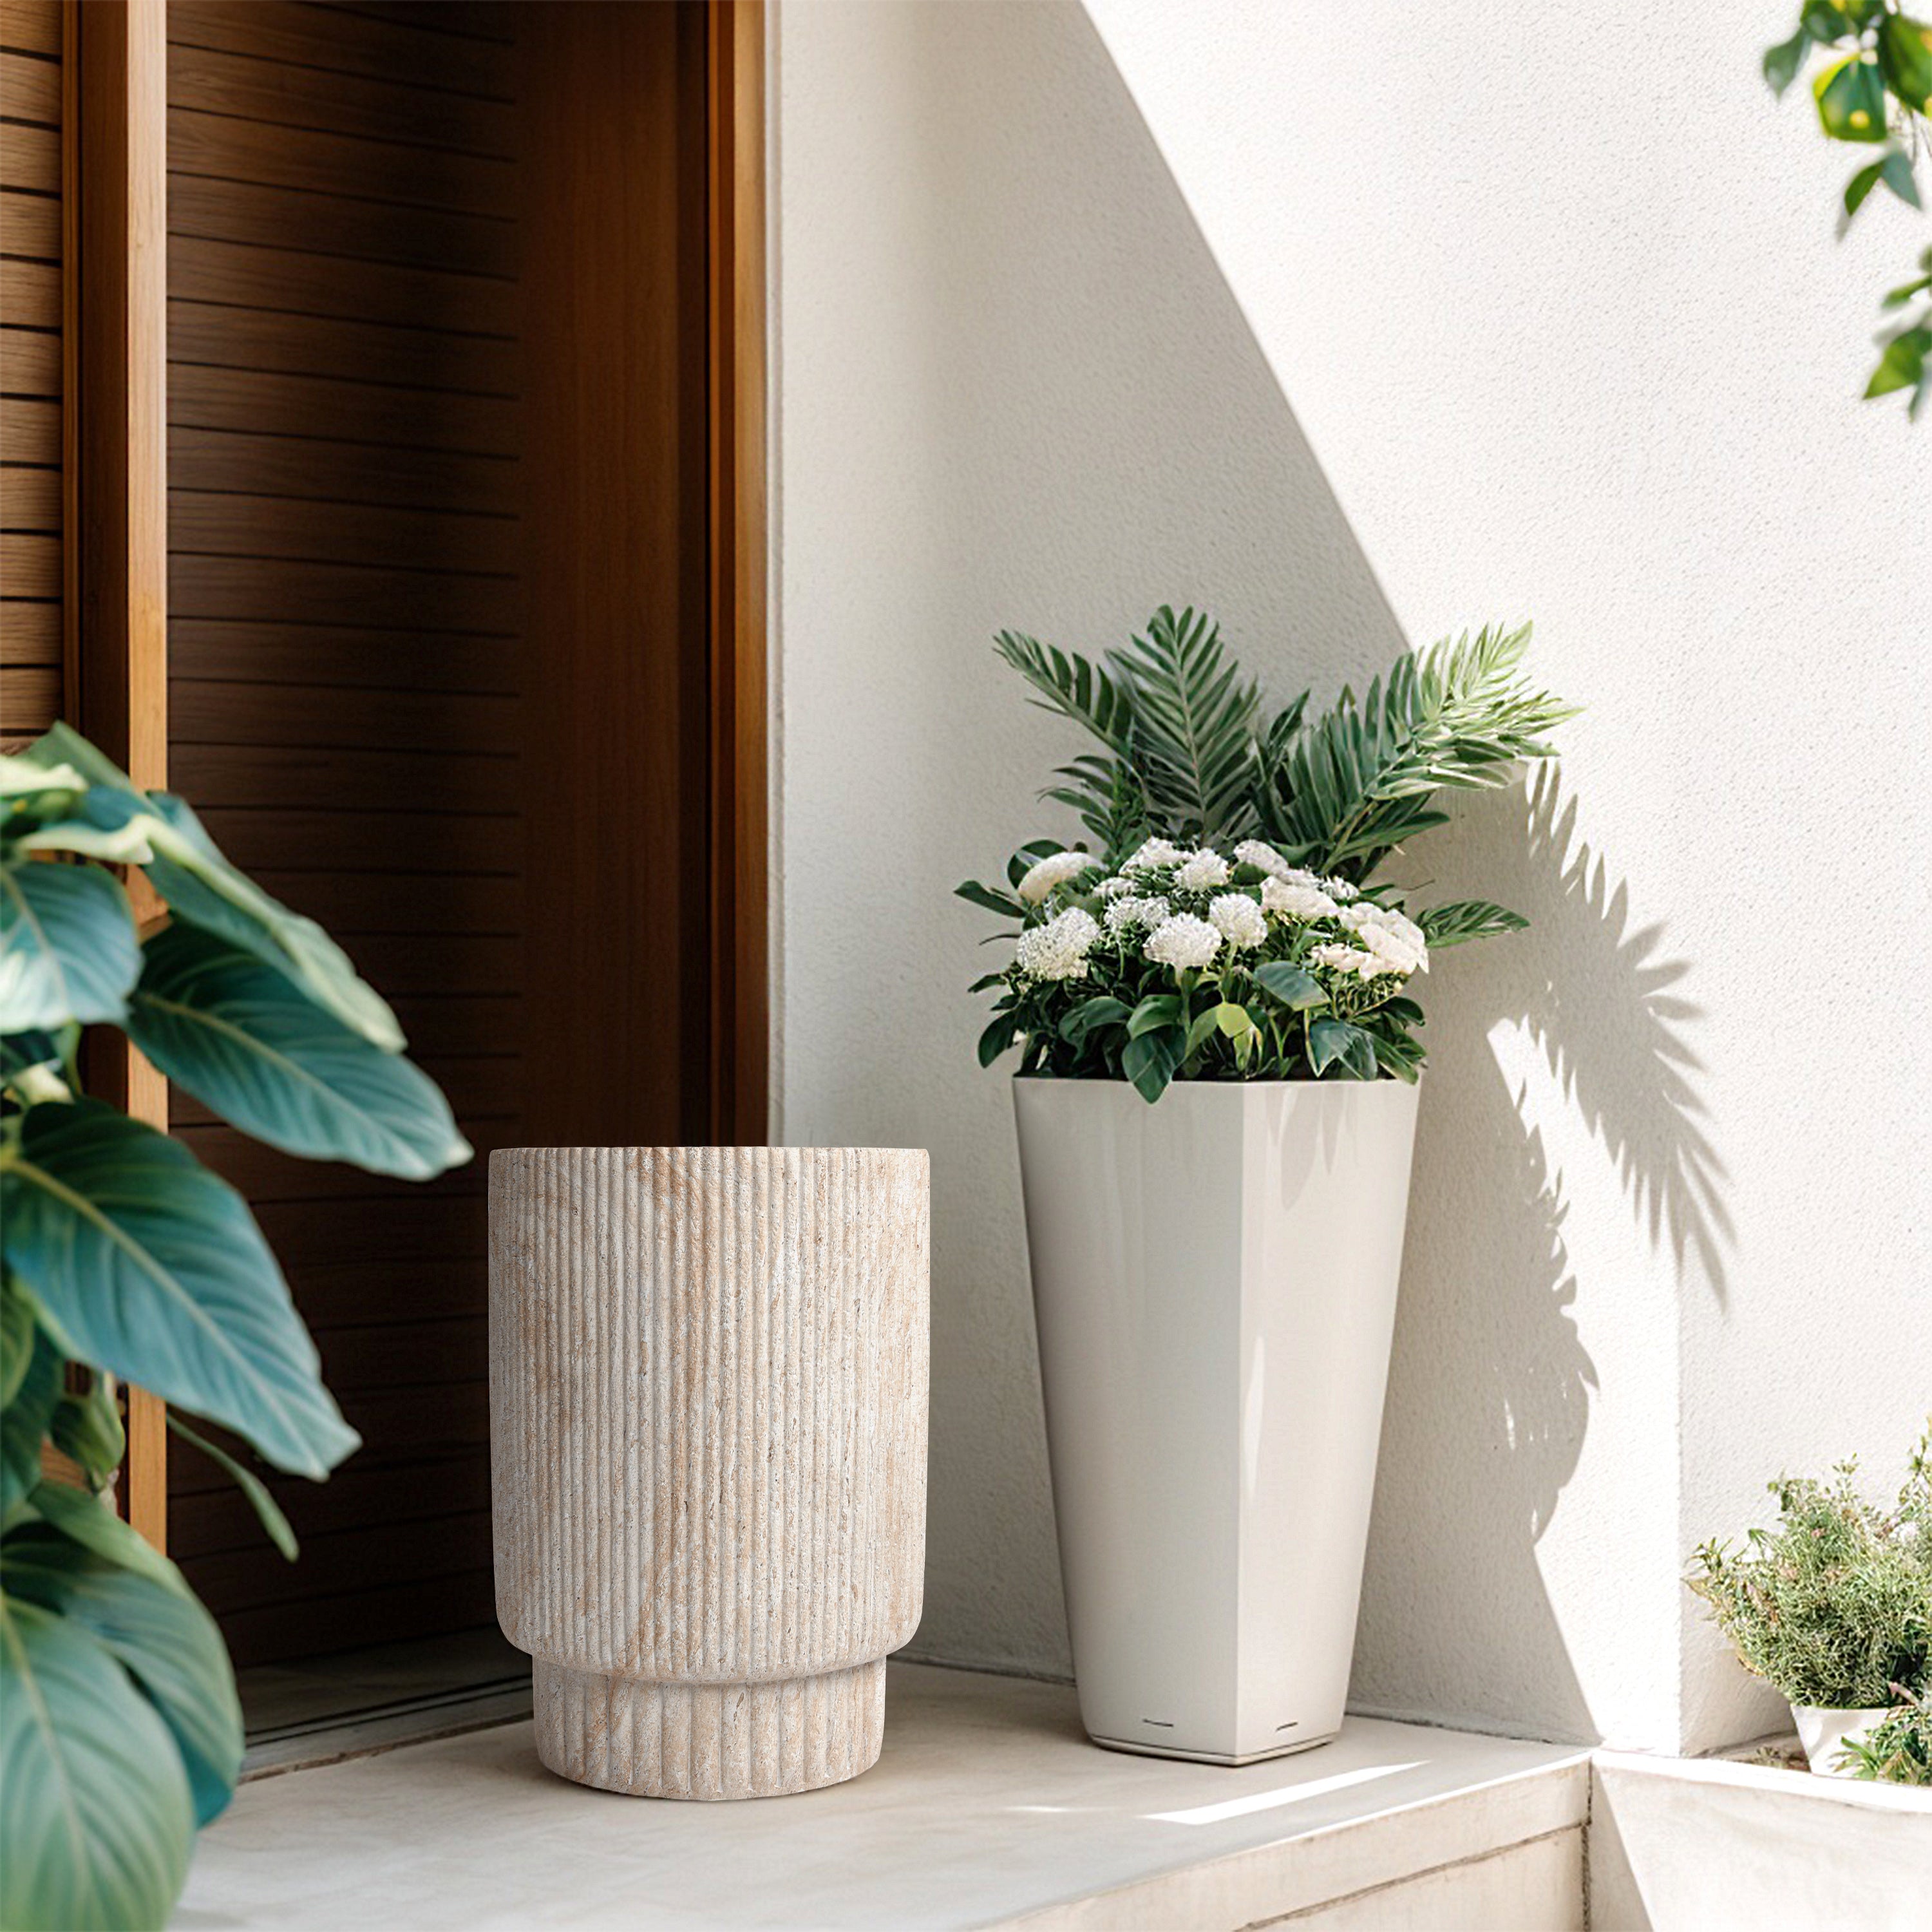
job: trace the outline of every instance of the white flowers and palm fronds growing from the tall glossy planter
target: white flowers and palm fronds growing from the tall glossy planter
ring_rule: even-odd
[[[1124,1078],[1150,1101],[1171,1080],[1414,1080],[1430,951],[1526,922],[1490,900],[1410,918],[1376,871],[1445,821],[1441,786],[1549,755],[1544,732],[1573,713],[1522,678],[1528,638],[1405,655],[1308,721],[1306,692],[1264,717],[1192,611],[1163,607],[1097,665],[1003,632],[999,655],[1101,752],[1043,794],[1094,850],[1032,840],[1007,891],[958,887],[1020,922],[1012,964],[974,985],[999,995],[980,1063],[1018,1041],[1022,1074]]]

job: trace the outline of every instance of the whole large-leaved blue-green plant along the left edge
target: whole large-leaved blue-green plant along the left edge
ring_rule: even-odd
[[[52,856],[79,864],[48,864]],[[135,929],[106,867],[168,906]],[[357,1437],[247,1204],[89,1099],[83,1026],[290,1153],[423,1179],[469,1157],[388,1007],[319,925],[230,866],[178,798],[66,726],[0,759],[0,1924],[155,1926],[228,1803],[242,1714],[214,1621],[100,1492],[122,1383],[321,1478]],[[294,1538],[242,1464],[170,1414]]]

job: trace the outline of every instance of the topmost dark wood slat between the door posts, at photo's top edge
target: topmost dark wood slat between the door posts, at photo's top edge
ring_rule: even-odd
[[[415,21],[377,21],[336,8],[261,6],[259,0],[168,0],[168,44],[282,60],[330,73],[388,81],[419,77],[439,93],[514,100],[512,56],[425,31]]]

